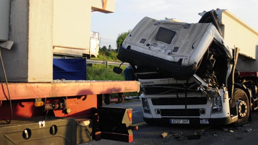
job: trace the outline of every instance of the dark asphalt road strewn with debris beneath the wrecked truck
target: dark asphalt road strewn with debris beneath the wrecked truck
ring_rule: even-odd
[[[142,119],[142,108],[141,102],[129,102],[123,104],[108,105],[110,107],[128,107],[133,108],[133,124],[144,122]],[[121,144],[227,144],[227,145],[241,145],[241,144],[258,144],[258,113],[252,112],[252,122],[248,122],[248,126],[237,128],[233,125],[224,126],[193,126],[193,127],[164,127],[164,126],[153,126],[149,124],[142,124],[139,126],[138,131],[133,131],[132,143],[124,143],[119,141],[111,141],[101,139],[100,141],[91,141],[84,145],[121,145]],[[223,131],[223,128],[228,130],[232,129],[234,132]],[[245,132],[246,129],[252,129],[251,132]],[[199,134],[202,130],[205,130],[205,135],[202,135],[200,139],[187,140],[187,135],[194,133]],[[183,140],[175,139],[174,136],[163,138],[161,134],[168,132],[168,134],[178,134]]]

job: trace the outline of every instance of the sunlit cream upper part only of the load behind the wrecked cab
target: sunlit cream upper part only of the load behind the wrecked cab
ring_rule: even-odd
[[[226,9],[217,9],[223,38],[230,48],[240,48],[240,54],[257,59],[258,32]],[[203,15],[206,12],[199,13]]]

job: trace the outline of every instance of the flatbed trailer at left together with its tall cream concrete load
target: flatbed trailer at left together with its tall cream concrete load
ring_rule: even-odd
[[[114,8],[114,0],[0,1],[0,145],[133,141],[132,109],[102,103],[122,103],[124,92],[139,91],[138,81],[53,80],[58,48],[96,57],[99,33],[90,35],[91,10]],[[82,73],[72,65],[58,71]]]

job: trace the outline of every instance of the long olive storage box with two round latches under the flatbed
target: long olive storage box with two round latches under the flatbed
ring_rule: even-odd
[[[33,117],[13,120],[0,125],[2,145],[74,145],[76,144],[76,120],[68,117]]]

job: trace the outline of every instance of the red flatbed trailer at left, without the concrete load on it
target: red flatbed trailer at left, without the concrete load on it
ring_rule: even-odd
[[[124,92],[139,91],[138,81],[8,83],[10,124],[5,122],[11,115],[7,86],[0,84],[0,144],[133,141],[132,109],[102,107],[102,102],[103,94],[105,102],[123,102]],[[118,97],[109,98],[110,93]]]

